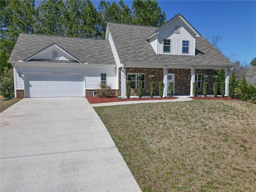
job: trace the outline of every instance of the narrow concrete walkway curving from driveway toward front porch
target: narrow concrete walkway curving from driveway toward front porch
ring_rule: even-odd
[[[110,103],[96,103],[91,104],[93,107],[100,106],[112,106],[112,105],[128,105],[128,104],[138,104],[138,103],[159,103],[159,102],[177,102],[177,101],[191,101],[192,98],[188,97],[178,97],[177,99],[164,99],[164,100],[142,100],[142,101],[120,101],[120,102],[110,102]]]

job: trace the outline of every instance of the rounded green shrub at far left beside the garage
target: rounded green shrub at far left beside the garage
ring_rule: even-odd
[[[14,98],[13,69],[5,67],[1,73],[2,73],[1,81],[0,81],[1,95],[6,99]]]

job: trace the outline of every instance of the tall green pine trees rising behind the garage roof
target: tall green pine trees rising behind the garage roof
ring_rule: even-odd
[[[0,65],[7,63],[20,33],[81,38],[104,38],[106,22],[161,26],[166,20],[156,0],[134,0],[132,8],[122,0],[0,0]]]

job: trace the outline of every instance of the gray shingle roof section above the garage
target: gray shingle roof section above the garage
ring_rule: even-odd
[[[116,64],[108,40],[25,33],[20,34],[9,61],[25,60],[53,43],[84,63]]]

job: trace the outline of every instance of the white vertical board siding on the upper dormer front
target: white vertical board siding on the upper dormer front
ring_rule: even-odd
[[[175,33],[175,26],[180,26],[180,33]],[[163,40],[171,40],[171,52],[163,52]],[[158,34],[157,50],[158,54],[182,54],[182,40],[189,41],[188,54],[184,55],[195,55],[195,37],[192,35],[192,31],[181,20],[174,20],[171,24],[166,25]]]

